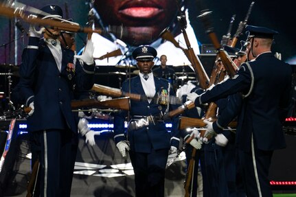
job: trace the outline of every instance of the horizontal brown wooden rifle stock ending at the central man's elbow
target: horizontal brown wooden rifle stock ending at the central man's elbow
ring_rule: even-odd
[[[80,107],[106,107],[106,108],[117,108],[122,110],[130,109],[130,99],[128,97],[116,98],[112,100],[98,101],[95,99],[77,100],[71,102],[72,108]]]

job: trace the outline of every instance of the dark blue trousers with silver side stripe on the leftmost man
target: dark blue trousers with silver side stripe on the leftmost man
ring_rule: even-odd
[[[31,135],[32,161],[38,158],[40,162],[36,191],[41,197],[70,196],[73,178],[71,130],[41,130]]]

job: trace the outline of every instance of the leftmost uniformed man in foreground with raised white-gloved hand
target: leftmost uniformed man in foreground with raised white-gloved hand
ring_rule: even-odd
[[[62,20],[58,5],[45,5],[39,17]],[[47,15],[49,14],[49,15]],[[87,42],[84,64],[73,64],[74,52],[60,45],[60,30],[30,26],[29,44],[20,66],[21,93],[32,110],[27,130],[32,138],[32,161],[38,159],[38,181],[34,189],[40,196],[70,196],[71,139],[78,124],[71,111],[73,86],[87,90],[93,86],[93,43]],[[44,38],[41,38],[41,36]]]

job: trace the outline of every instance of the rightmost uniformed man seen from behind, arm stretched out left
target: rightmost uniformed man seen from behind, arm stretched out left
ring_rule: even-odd
[[[275,58],[271,52],[273,36],[266,27],[247,25],[248,58],[229,80],[217,84],[202,95],[187,96],[196,106],[242,93],[242,108],[238,116],[236,144],[239,151],[242,178],[247,196],[273,196],[269,185],[269,167],[273,151],[286,147],[282,122],[291,100],[291,67]],[[275,93],[274,90],[277,90]],[[208,123],[205,135],[216,135]]]

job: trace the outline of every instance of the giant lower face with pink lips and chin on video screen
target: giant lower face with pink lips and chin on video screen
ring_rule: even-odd
[[[123,25],[129,45],[147,45],[159,38],[177,14],[175,0],[95,0],[104,25]]]

